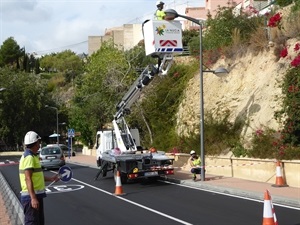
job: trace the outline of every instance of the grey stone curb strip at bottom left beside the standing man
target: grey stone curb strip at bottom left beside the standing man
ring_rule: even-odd
[[[6,179],[0,172],[0,192],[2,194],[3,200],[5,202],[4,207],[6,207],[10,221],[14,225],[22,225],[24,221],[24,213],[22,205],[11,190]]]

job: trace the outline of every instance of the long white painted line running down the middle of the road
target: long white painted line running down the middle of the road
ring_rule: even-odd
[[[110,192],[108,192],[108,191],[105,191],[105,190],[103,190],[103,189],[97,188],[97,187],[92,186],[92,185],[90,185],[90,184],[88,184],[88,183],[85,183],[85,182],[83,182],[83,181],[80,181],[80,180],[77,180],[77,179],[74,179],[74,178],[72,178],[72,180],[77,181],[78,183],[84,184],[84,185],[86,185],[86,186],[88,186],[88,187],[90,187],[90,188],[93,188],[93,189],[97,190],[97,191],[101,191],[101,192],[103,192],[103,193],[105,193],[105,194],[115,196],[114,194],[112,194],[112,193],[110,193]],[[175,217],[173,217],[173,216],[167,215],[167,214],[165,214],[165,213],[159,212],[159,211],[157,211],[157,210],[155,210],[155,209],[152,209],[152,208],[149,208],[149,207],[147,207],[147,206],[141,205],[141,204],[139,204],[139,203],[133,202],[133,201],[128,200],[128,199],[126,199],[126,198],[123,198],[123,197],[120,197],[120,196],[115,196],[115,197],[116,197],[116,198],[119,198],[120,200],[123,200],[123,201],[125,201],[125,202],[128,202],[128,203],[130,203],[130,204],[132,204],[132,205],[138,206],[138,207],[140,207],[140,208],[146,209],[146,210],[148,210],[148,211],[151,211],[151,212],[153,212],[153,213],[156,213],[156,214],[161,215],[161,216],[163,216],[163,217],[166,217],[166,218],[168,218],[168,219],[174,220],[174,221],[176,221],[176,222],[178,222],[178,223],[185,224],[185,225],[192,225],[191,223],[188,223],[188,222],[186,222],[186,221],[180,220],[180,219],[178,219],[178,218],[175,218]]]

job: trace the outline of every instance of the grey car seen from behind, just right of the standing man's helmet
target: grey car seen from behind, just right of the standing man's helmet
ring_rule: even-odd
[[[41,149],[40,163],[43,169],[50,169],[64,166],[66,161],[62,149],[58,145],[50,145]]]

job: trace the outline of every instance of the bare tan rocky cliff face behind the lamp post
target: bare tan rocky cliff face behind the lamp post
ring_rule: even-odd
[[[259,55],[245,54],[236,60],[221,59],[219,66],[229,70],[229,74],[217,77],[204,73],[204,110],[214,115],[230,112],[230,120],[245,121],[242,136],[247,140],[257,129],[269,127],[278,129],[274,112],[281,107],[280,83],[290,67],[296,39],[288,41],[289,57],[276,60],[273,47]],[[299,42],[299,40],[298,40]],[[294,53],[293,53],[294,52]],[[199,132],[200,98],[199,73],[190,80],[185,98],[177,114],[177,131],[180,135]]]

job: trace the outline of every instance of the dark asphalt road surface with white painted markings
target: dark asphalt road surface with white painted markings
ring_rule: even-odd
[[[15,161],[13,157],[9,160]],[[48,225],[262,224],[262,202],[163,181],[124,184],[122,188],[126,195],[115,196],[112,174],[94,181],[96,169],[68,166],[73,171],[72,180],[47,188],[45,213]],[[14,192],[19,193],[18,165],[1,165],[0,170]],[[57,171],[45,173],[54,172]],[[276,206],[275,212],[280,225],[300,225],[299,210]]]

